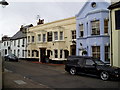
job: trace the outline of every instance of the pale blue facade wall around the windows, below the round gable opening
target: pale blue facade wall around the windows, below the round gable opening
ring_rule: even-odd
[[[77,20],[77,55],[83,55],[83,51],[87,51],[88,56],[93,56],[92,47],[99,46],[100,50],[100,58],[102,61],[109,62],[109,60],[105,60],[105,47],[110,47],[109,41],[109,24],[108,24],[108,32],[104,32],[104,20],[109,20],[109,11],[107,10],[107,6],[104,2],[96,2],[96,7],[91,7],[92,1],[87,3],[86,6],[80,11],[78,15],[76,15]],[[101,6],[102,5],[102,6]],[[107,6],[106,6],[107,5]],[[102,8],[101,8],[102,7]],[[89,12],[90,11],[90,12]],[[93,35],[92,33],[92,22],[99,21],[99,35]],[[80,34],[80,28],[83,25],[83,36]],[[96,50],[97,51],[97,50]],[[108,52],[109,53],[109,52]],[[109,56],[108,56],[109,57]],[[109,57],[110,59],[110,57]]]

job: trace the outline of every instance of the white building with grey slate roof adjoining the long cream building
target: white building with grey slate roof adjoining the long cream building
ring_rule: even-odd
[[[27,57],[27,29],[33,25],[21,26],[20,30],[11,37],[11,51],[20,59]]]

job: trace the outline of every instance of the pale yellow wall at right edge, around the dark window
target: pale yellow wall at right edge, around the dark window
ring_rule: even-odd
[[[120,67],[120,29],[116,30],[116,23],[115,23],[115,11],[120,10],[120,8],[113,9],[111,11],[111,25],[112,25],[112,59],[111,63],[113,66]],[[120,15],[120,13],[119,13]]]

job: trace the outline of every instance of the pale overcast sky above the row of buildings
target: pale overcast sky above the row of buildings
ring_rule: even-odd
[[[39,18],[45,23],[75,16],[87,0],[6,0],[9,5],[0,6],[0,39],[12,37],[21,25],[37,25]],[[43,2],[44,1],[44,2]],[[109,1],[109,0],[108,0]]]

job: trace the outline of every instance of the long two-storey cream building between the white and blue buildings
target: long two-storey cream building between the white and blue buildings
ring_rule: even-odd
[[[50,61],[64,61],[67,56],[76,55],[75,17],[29,28],[27,44],[27,58],[41,62],[45,62],[44,55]]]

